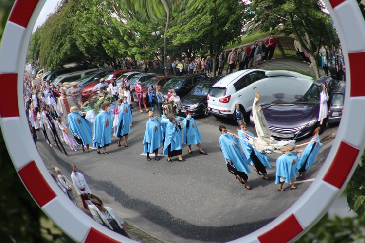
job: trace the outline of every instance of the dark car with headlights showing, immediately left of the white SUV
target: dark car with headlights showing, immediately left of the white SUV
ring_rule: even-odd
[[[191,116],[209,115],[207,94],[212,85],[219,79],[221,77],[204,79],[181,99],[185,110],[191,111]],[[184,114],[186,111],[182,110],[181,112]]]

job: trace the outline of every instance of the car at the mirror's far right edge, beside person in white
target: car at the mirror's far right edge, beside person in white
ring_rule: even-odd
[[[345,81],[339,81],[334,88],[332,99],[328,108],[329,125],[339,123],[344,109],[345,100]]]

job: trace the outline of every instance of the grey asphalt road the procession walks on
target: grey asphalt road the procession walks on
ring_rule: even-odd
[[[268,168],[271,181],[257,175],[254,167],[249,174],[253,188],[248,191],[227,171],[219,146],[218,126],[224,124],[235,132],[237,124],[213,116],[197,118],[203,139],[201,146],[208,155],[200,155],[193,145],[193,154],[183,147],[185,162],[177,157],[168,163],[147,161],[142,140],[148,119],[146,113],[133,110],[133,127],[129,134],[129,147],[117,147],[117,139],[107,147],[108,155],[77,152],[66,148],[70,157],[45,143],[38,132],[39,152],[70,176],[71,164],[84,174],[93,194],[125,220],[167,242],[225,242],[244,236],[274,220],[289,208],[310,186],[310,182],[297,184],[297,190],[279,192],[275,185],[276,158],[269,155],[272,168]],[[249,130],[254,128],[249,125]],[[326,159],[337,127],[327,128],[321,137],[323,147],[317,162],[307,171],[307,178],[315,178]],[[254,132],[255,133],[255,132]],[[256,134],[256,133],[255,133]],[[297,144],[310,138],[297,141]],[[122,140],[122,144],[123,144]],[[161,153],[161,150],[160,150]],[[70,178],[70,177],[69,177]],[[285,184],[287,189],[290,185]]]

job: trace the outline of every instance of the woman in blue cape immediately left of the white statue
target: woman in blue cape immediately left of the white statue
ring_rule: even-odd
[[[238,137],[249,140],[247,137],[255,137],[253,133],[250,131],[247,131],[246,122],[243,120],[240,120],[239,126],[241,127],[241,130],[238,132]],[[247,137],[246,137],[247,134]],[[260,153],[255,148],[252,147],[252,145],[249,142],[246,142],[244,140],[240,139],[239,142],[241,143],[241,147],[243,149],[243,152],[245,153],[246,158],[248,161],[250,161],[251,165],[255,166],[255,171],[258,175],[261,175],[262,178],[265,180],[270,180],[269,177],[267,177],[266,167],[271,168],[269,157],[265,153]]]

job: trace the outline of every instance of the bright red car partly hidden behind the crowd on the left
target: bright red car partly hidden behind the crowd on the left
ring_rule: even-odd
[[[101,75],[98,73],[98,75],[94,76],[93,79],[91,78],[89,81],[87,81],[87,80],[82,81],[84,83],[80,82],[79,85],[83,86],[82,101],[83,102],[87,101],[91,94],[93,94],[94,92],[97,92],[97,91],[92,91],[92,90],[95,87],[95,85],[97,85],[100,82],[101,78],[104,78],[105,82],[109,85],[112,78],[118,78],[123,73],[129,72],[129,71],[130,70],[118,70],[118,71],[110,70],[107,73],[104,73],[104,75]],[[86,84],[86,82],[88,82],[88,83]]]

